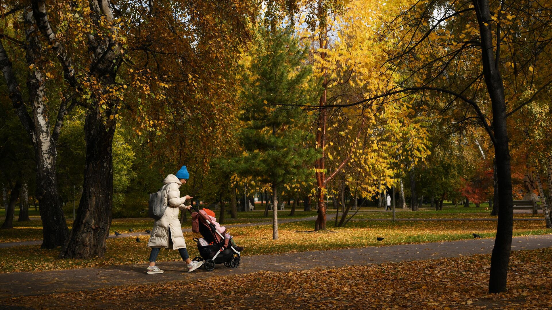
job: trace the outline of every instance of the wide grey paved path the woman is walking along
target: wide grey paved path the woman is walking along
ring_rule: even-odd
[[[489,254],[494,239],[470,239],[451,242],[403,244],[358,249],[326,250],[278,255],[243,256],[238,268],[216,265],[214,271],[203,268],[185,272],[183,261],[160,262],[165,271],[146,275],[146,264],[82,268],[59,271],[12,272],[0,274],[0,298],[94,290],[118,285],[164,283],[174,280],[197,281],[212,276],[247,274],[256,271],[292,271],[335,268],[347,265],[381,264],[406,260],[424,260]],[[512,250],[552,247],[552,235],[514,237]]]

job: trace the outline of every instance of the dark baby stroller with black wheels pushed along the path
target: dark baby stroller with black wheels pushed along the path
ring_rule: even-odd
[[[204,260],[203,266],[207,271],[215,269],[215,264],[237,268],[240,265],[240,252],[232,247],[230,240],[226,239],[224,234],[216,230],[207,213],[195,208],[191,209],[190,213],[192,213],[192,232],[203,236],[203,238],[194,238],[201,256],[195,256],[193,261]]]

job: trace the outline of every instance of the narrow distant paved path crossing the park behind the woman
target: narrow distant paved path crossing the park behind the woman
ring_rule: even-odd
[[[523,210],[522,210],[523,211]],[[326,215],[326,220],[330,221],[335,219],[336,215],[328,214]],[[278,220],[279,224],[291,223],[291,222],[301,222],[301,221],[314,221],[316,216],[302,217],[302,218],[285,218]],[[395,221],[497,221],[497,218],[395,218]],[[514,218],[514,221],[544,221],[544,218]],[[351,221],[392,221],[392,218],[352,218]],[[262,226],[262,225],[272,225],[272,221],[259,221],[252,223],[243,223],[243,224],[231,224],[225,225],[227,228],[232,227],[250,227],[250,226]],[[183,232],[191,232],[190,228],[183,228]],[[138,236],[147,236],[146,232],[131,232],[131,233],[121,233],[121,236],[115,236],[115,234],[110,234],[108,238],[123,238],[123,237],[138,237]],[[37,245],[42,244],[42,240],[32,240],[32,241],[22,241],[22,242],[3,242],[0,243],[1,248],[11,248],[19,247],[20,245]]]

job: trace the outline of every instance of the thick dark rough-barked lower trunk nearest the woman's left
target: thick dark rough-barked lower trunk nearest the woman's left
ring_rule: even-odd
[[[96,106],[84,121],[86,167],[81,201],[73,229],[60,258],[87,259],[105,253],[113,201],[112,141],[115,119],[105,121]]]

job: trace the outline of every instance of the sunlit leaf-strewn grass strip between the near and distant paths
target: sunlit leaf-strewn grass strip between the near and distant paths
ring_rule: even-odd
[[[246,249],[243,255],[276,254],[359,248],[378,245],[424,243],[471,239],[472,233],[492,237],[496,222],[448,221],[448,222],[351,222],[344,228],[333,228],[328,232],[309,232],[314,221],[294,222],[280,225],[279,239],[272,240],[272,226],[251,226],[230,228],[238,245]],[[514,222],[514,235],[548,234],[552,229],[544,229],[540,221]],[[147,263],[150,249],[146,247],[147,235],[140,237],[109,238],[105,258],[86,260],[57,259],[59,249],[39,249],[39,245],[0,249],[1,272],[38,271],[67,268],[83,268],[123,264]],[[193,242],[198,234],[184,233],[190,256],[198,255]],[[381,242],[376,237],[385,237]],[[179,260],[177,251],[163,250],[158,261]]]

